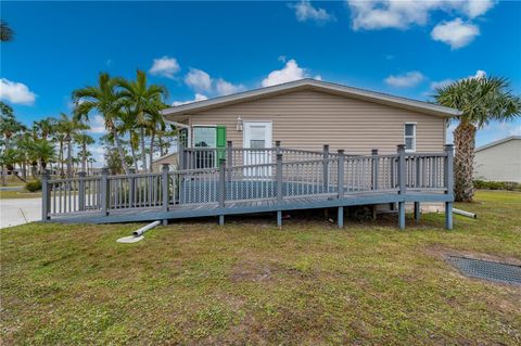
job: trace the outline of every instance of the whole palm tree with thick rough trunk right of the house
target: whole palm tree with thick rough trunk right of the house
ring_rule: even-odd
[[[508,79],[480,77],[437,88],[437,103],[462,112],[454,131],[456,201],[471,202],[475,132],[491,120],[508,121],[521,114],[521,99],[513,95]]]

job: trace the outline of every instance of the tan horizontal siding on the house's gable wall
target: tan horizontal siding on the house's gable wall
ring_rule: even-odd
[[[444,119],[367,101],[317,91],[295,91],[229,105],[190,116],[191,125],[224,125],[228,140],[242,146],[237,118],[272,121],[274,141],[298,149],[345,149],[367,154],[371,149],[393,153],[404,142],[404,123],[417,123],[417,151],[443,150]]]

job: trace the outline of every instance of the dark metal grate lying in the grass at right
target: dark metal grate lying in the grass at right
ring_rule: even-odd
[[[447,259],[467,277],[521,284],[521,266],[458,256],[448,256]]]

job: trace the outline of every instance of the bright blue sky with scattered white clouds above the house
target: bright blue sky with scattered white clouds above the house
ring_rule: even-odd
[[[99,72],[165,85],[186,102],[302,77],[428,100],[432,87],[505,76],[521,94],[521,3],[1,2],[0,97],[25,123],[69,112]],[[103,128],[92,119],[93,134]],[[521,134],[491,124],[478,144]]]

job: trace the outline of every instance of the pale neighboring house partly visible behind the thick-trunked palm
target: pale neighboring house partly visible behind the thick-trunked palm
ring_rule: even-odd
[[[474,178],[521,183],[521,136],[511,136],[475,150]]]

